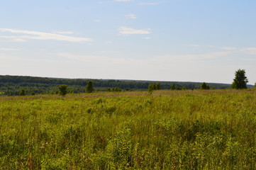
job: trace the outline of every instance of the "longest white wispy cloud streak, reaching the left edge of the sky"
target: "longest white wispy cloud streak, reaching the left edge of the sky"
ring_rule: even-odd
[[[9,38],[14,41],[26,41],[26,40],[59,40],[59,41],[68,41],[68,42],[87,42],[91,41],[91,38],[77,38],[67,35],[60,35],[56,33],[43,33],[38,31],[31,30],[16,30],[9,28],[0,28],[0,32],[9,32],[13,34],[22,34],[22,35],[11,35],[11,36],[1,36],[1,38]],[[67,32],[66,32],[67,33]]]

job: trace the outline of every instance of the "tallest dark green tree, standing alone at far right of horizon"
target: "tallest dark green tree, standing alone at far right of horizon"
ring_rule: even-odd
[[[245,69],[238,69],[235,72],[235,79],[233,79],[233,84],[231,85],[232,89],[247,89],[248,79],[245,76]]]

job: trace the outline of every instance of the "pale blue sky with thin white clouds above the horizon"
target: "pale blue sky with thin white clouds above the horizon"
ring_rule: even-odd
[[[0,74],[256,82],[255,0],[0,0]]]

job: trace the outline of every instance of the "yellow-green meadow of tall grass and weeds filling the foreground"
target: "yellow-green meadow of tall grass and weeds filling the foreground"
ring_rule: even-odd
[[[0,169],[256,169],[256,91],[0,98]]]

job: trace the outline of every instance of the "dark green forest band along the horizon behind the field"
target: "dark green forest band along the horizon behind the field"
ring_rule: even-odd
[[[134,81],[113,79],[58,79],[44,77],[0,76],[0,95],[18,96],[21,89],[26,94],[55,94],[60,84],[67,84],[69,93],[80,94],[85,92],[87,82],[93,82],[95,91],[109,91],[118,88],[122,91],[145,91],[149,84],[159,83],[160,89],[171,89],[175,84],[178,89],[200,89],[200,82],[178,81]],[[208,84],[211,89],[229,89],[229,84]]]

